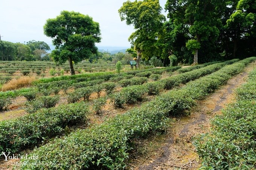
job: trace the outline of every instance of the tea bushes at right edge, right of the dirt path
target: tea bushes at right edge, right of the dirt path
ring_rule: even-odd
[[[203,169],[255,169],[256,69],[236,99],[212,120],[212,131],[195,140]]]

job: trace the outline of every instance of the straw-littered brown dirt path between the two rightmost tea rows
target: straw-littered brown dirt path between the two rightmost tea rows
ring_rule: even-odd
[[[198,169],[201,161],[192,144],[193,137],[210,129],[210,119],[221,114],[221,109],[235,99],[234,90],[245,83],[248,72],[256,68],[256,62],[248,65],[244,72],[231,78],[211,95],[197,102],[189,116],[174,117],[167,134],[146,140],[148,154],[132,159],[127,169],[132,170],[176,170]],[[155,144],[155,146],[152,146]],[[145,146],[144,146],[145,147]],[[154,148],[154,149],[152,149]]]

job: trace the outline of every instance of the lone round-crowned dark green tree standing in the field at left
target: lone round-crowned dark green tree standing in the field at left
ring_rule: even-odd
[[[101,41],[99,23],[74,11],[61,11],[56,18],[48,19],[44,34],[56,46],[52,51],[54,61],[63,64],[69,60],[71,75],[75,74],[72,61],[78,63],[97,53],[95,43]]]

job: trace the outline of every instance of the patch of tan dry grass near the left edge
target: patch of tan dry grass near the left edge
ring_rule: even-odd
[[[30,84],[35,81],[35,77],[21,77],[18,79],[12,79],[6,84],[3,84],[2,91],[5,92],[7,90],[16,90],[20,89],[22,87],[29,87]]]

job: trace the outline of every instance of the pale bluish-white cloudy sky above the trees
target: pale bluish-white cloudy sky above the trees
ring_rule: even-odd
[[[0,35],[3,41],[28,42],[51,39],[43,34],[48,18],[55,18],[61,11],[75,11],[89,15],[98,22],[101,29],[101,43],[98,47],[130,47],[128,37],[133,26],[121,21],[118,9],[126,0],[1,0]],[[131,0],[133,1],[133,0]],[[166,0],[160,0],[164,9]],[[165,10],[162,11],[166,15]]]

